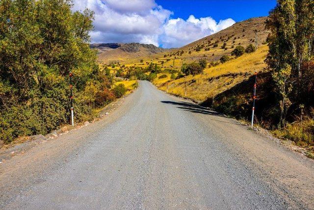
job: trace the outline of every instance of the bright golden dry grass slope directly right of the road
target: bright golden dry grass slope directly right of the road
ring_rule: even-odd
[[[185,96],[186,82],[186,97],[201,102],[248,79],[255,71],[263,71],[266,67],[263,60],[266,58],[267,52],[268,47],[262,45],[254,53],[245,54],[215,67],[206,68],[203,74],[189,75],[177,80],[170,80],[171,74],[167,74],[167,78],[157,78],[153,83],[160,90],[165,91],[168,81],[169,93]]]

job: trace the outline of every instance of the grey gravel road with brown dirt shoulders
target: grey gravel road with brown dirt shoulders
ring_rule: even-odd
[[[314,161],[142,81],[0,164],[0,209],[314,209]]]

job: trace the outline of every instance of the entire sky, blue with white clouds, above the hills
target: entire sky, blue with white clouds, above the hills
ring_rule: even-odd
[[[92,43],[181,47],[236,22],[267,16],[276,0],[74,0],[95,12]]]

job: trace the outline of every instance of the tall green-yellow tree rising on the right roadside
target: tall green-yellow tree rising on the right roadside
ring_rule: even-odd
[[[309,74],[313,72],[310,68],[313,65],[307,64],[313,60],[313,24],[314,0],[277,0],[266,21],[266,28],[271,33],[265,61],[274,70],[283,120],[285,101],[300,103],[305,100],[304,84],[309,84]],[[287,85],[291,88],[285,88]]]

